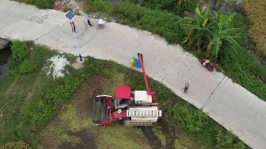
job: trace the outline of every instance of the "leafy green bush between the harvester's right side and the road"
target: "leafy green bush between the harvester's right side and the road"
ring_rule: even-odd
[[[173,117],[173,121],[183,129],[188,129],[192,132],[201,131],[208,116],[199,109],[193,109],[189,103],[182,106],[175,104],[169,109]]]

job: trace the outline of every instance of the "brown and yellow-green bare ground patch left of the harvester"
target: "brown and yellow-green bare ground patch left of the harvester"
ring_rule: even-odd
[[[108,79],[100,76],[85,81],[62,110],[36,137],[47,149],[96,149],[98,136],[92,126],[92,99],[107,89]]]

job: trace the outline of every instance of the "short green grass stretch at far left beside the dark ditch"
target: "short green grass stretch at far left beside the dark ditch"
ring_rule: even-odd
[[[27,142],[31,140],[31,132],[21,125],[21,119],[31,102],[39,99],[40,93],[46,88],[55,85],[54,81],[47,79],[41,71],[46,59],[55,53],[37,46],[31,56],[31,61],[37,66],[33,73],[1,81],[0,105],[6,117],[0,127],[0,144],[11,140],[19,141],[20,138],[26,138]]]

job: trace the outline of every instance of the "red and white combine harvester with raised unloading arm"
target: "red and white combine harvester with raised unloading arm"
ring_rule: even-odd
[[[125,125],[150,126],[162,117],[162,110],[156,103],[155,89],[148,85],[142,54],[137,53],[147,91],[131,91],[129,86],[115,89],[115,110],[112,112],[113,98],[107,95],[93,99],[93,125],[110,126],[112,121],[124,121]]]

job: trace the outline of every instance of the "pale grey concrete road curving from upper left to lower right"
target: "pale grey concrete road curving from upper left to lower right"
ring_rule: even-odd
[[[73,33],[64,14],[0,0],[0,37],[34,40],[36,44],[77,55]],[[147,75],[202,108],[253,149],[266,149],[265,101],[233,83],[227,76],[209,72],[192,54],[179,45],[168,45],[158,35],[115,23],[107,23],[100,28],[94,19],[93,27],[89,27],[82,16],[77,16],[74,22],[83,56],[129,66],[130,58],[141,52]],[[187,81],[190,87],[184,94],[182,87]]]

